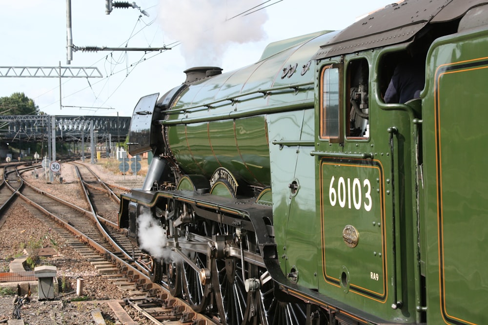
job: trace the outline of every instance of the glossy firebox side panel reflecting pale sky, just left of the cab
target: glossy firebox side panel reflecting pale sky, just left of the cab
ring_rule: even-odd
[[[269,141],[313,140],[314,110],[268,115]],[[298,284],[317,288],[320,235],[316,227],[313,147],[270,144],[273,223],[283,272],[298,270]],[[297,182],[298,191],[289,185]]]

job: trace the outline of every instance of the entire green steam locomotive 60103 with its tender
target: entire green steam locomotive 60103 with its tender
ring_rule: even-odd
[[[151,278],[222,324],[488,324],[487,22],[405,0],[142,97],[119,219]]]

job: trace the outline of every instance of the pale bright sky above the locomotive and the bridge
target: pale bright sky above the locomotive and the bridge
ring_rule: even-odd
[[[23,92],[48,115],[131,116],[140,97],[163,95],[182,84],[188,68],[233,71],[258,61],[270,42],[341,30],[397,1],[130,0],[139,8],[113,8],[107,15],[105,0],[71,0],[72,39],[78,48],[171,49],[77,50],[68,64],[67,0],[0,0],[0,67],[61,64],[98,68],[102,74],[61,78],[61,91],[58,77],[0,76],[0,97]]]

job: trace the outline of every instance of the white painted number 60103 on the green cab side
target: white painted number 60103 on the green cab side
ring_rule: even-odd
[[[344,178],[339,177],[337,183],[335,183],[335,177],[332,176],[329,185],[329,202],[332,207],[335,207],[337,203],[341,208],[360,210],[364,207],[366,211],[370,211],[373,207],[373,201],[371,199],[371,183],[369,179],[365,179],[363,184],[359,178]]]

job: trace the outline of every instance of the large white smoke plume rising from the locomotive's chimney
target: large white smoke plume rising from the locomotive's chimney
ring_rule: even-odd
[[[266,11],[251,9],[262,2],[160,0],[160,21],[164,33],[181,42],[188,67],[221,66],[225,50],[233,43],[245,44],[266,36]]]

